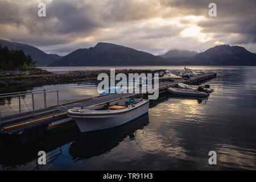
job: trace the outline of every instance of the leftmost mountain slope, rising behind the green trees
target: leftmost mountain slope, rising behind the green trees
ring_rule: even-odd
[[[10,42],[7,40],[0,40],[0,45],[2,47],[8,47],[9,49],[23,50],[26,55],[30,55],[34,61],[36,61],[37,66],[47,66],[53,61],[59,60],[62,56],[56,54],[48,54],[41,51],[40,49],[29,46],[27,44],[20,44],[16,42]]]

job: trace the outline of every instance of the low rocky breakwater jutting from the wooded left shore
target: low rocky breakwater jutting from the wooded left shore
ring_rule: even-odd
[[[100,71],[77,71],[72,73],[51,73],[48,71],[17,71],[13,72],[0,72],[0,90],[16,87],[16,86],[42,86],[52,84],[65,84],[77,81],[97,80],[100,73],[106,73],[110,75],[110,70]],[[150,70],[135,70],[124,69],[115,70],[115,75],[118,73],[125,73],[127,76],[129,73],[153,73]]]

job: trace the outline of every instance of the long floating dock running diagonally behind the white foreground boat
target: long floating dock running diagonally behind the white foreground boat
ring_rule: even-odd
[[[184,84],[200,84],[213,77],[216,77],[217,73],[209,73],[198,76],[191,76],[188,80],[184,78],[176,79],[175,81],[159,82],[159,94],[166,92],[167,88],[175,87],[179,83]],[[40,90],[39,92],[47,92]],[[31,92],[26,94],[33,94],[39,92]],[[50,90],[48,92],[57,92],[58,90]],[[65,125],[72,122],[72,118],[67,116],[66,111],[73,107],[88,107],[94,105],[105,104],[109,101],[119,100],[121,98],[140,98],[145,97],[147,94],[142,93],[112,93],[105,94],[103,96],[96,96],[90,98],[82,98],[81,100],[66,102],[59,104],[59,98],[57,99],[57,105],[48,106],[44,109],[38,109],[28,111],[26,113],[18,113],[14,115],[7,115],[0,117],[0,134],[5,138],[12,138],[13,136],[19,136],[22,143],[30,142],[43,137],[47,131],[55,129],[56,127]],[[34,101],[33,101],[34,103]],[[46,104],[45,104],[46,106]]]

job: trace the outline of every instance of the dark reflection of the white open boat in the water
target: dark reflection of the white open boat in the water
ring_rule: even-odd
[[[92,156],[104,154],[118,146],[119,142],[126,136],[129,136],[130,140],[134,139],[135,130],[142,129],[148,123],[148,114],[146,114],[127,125],[80,134],[75,142],[71,144],[69,154],[73,157],[73,160],[88,159]]]

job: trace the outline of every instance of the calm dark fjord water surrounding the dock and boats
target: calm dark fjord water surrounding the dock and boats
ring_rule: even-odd
[[[144,68],[152,67],[137,69]],[[79,134],[71,125],[65,133],[56,131],[25,146],[1,143],[0,169],[255,170],[256,67],[189,68],[217,72],[217,77],[207,82],[214,88],[208,99],[162,95],[150,104],[148,115],[112,130]],[[154,69],[175,73],[183,67]],[[97,82],[33,89],[60,89],[60,102],[98,95]],[[15,99],[10,102],[15,106]],[[37,165],[40,150],[47,152],[43,166]],[[217,152],[217,165],[209,165],[209,151]]]

